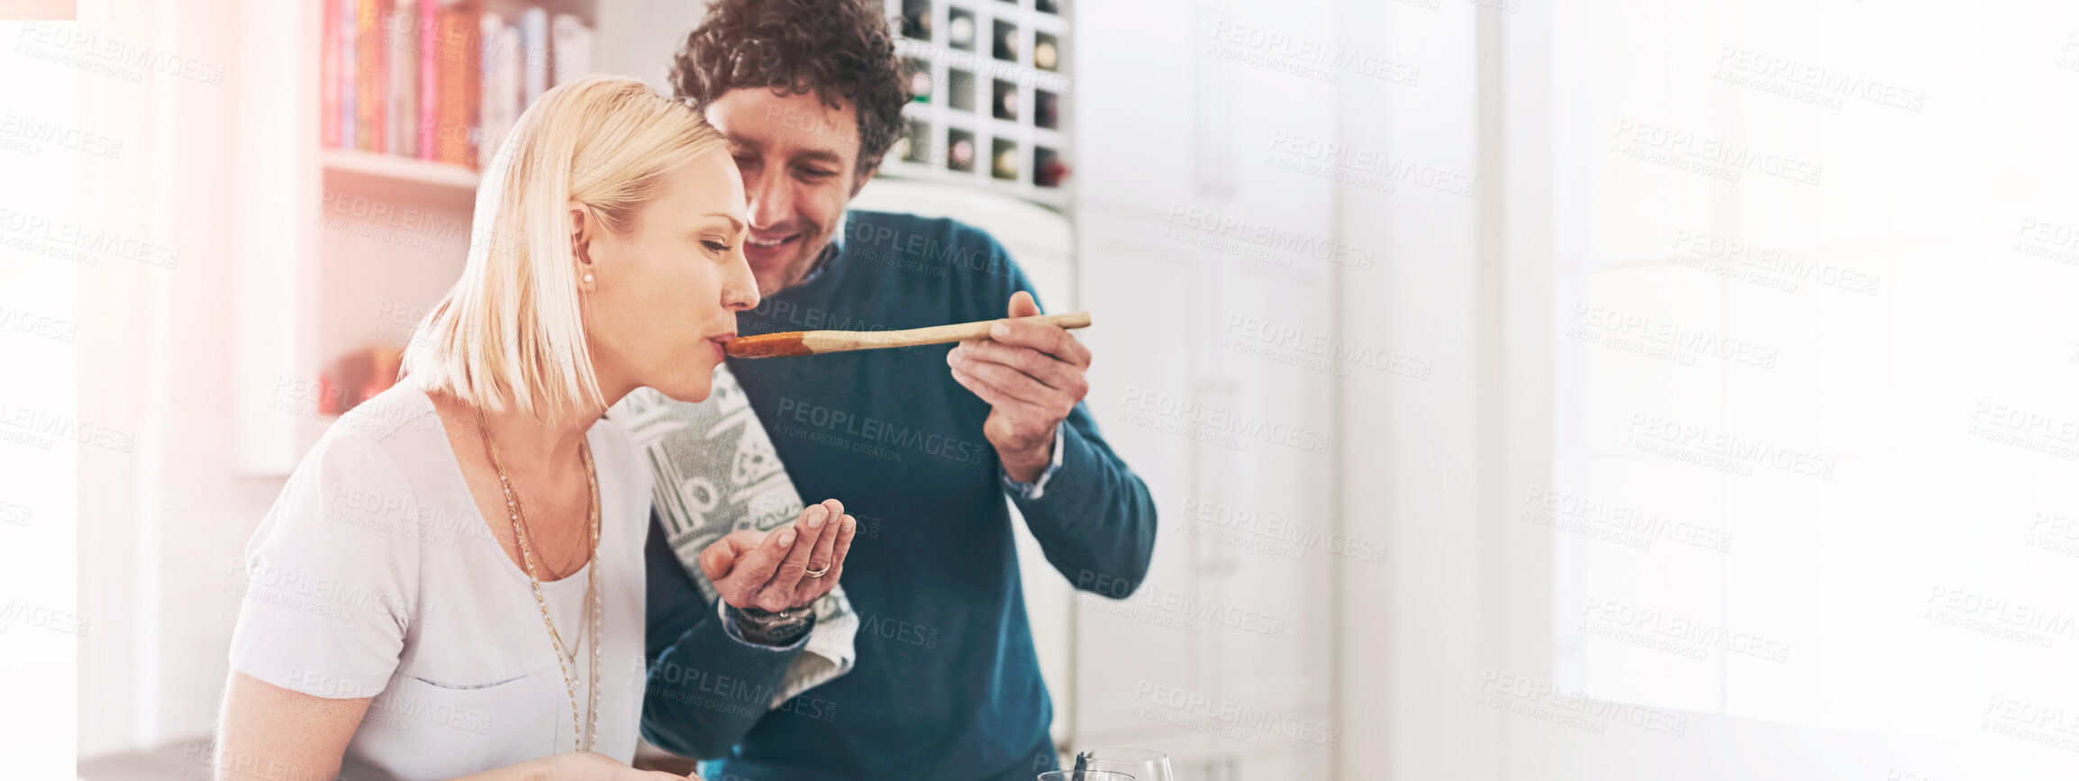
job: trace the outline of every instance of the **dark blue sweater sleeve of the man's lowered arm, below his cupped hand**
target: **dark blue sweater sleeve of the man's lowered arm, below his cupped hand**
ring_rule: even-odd
[[[682,756],[723,756],[765,717],[802,644],[767,648],[734,636],[715,604],[701,596],[655,517],[642,557],[651,663],[642,737]]]

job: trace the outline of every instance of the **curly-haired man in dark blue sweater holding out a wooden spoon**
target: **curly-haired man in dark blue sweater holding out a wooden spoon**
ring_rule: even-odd
[[[1040,314],[990,235],[846,210],[909,102],[875,8],[715,0],[672,87],[728,137],[744,181],[744,253],[765,297],[738,318],[744,334]],[[730,359],[800,492],[840,496],[861,521],[842,584],[861,617],[857,667],[778,708],[740,706],[742,692],[780,690],[807,636],[767,631],[771,617],[738,604],[715,613],[653,530],[642,733],[719,758],[711,779],[1054,769],[1004,496],[1048,563],[1104,596],[1139,588],[1156,538],[1148,488],[1081,403],[1087,366],[1067,330],[1029,322],[958,347]]]

